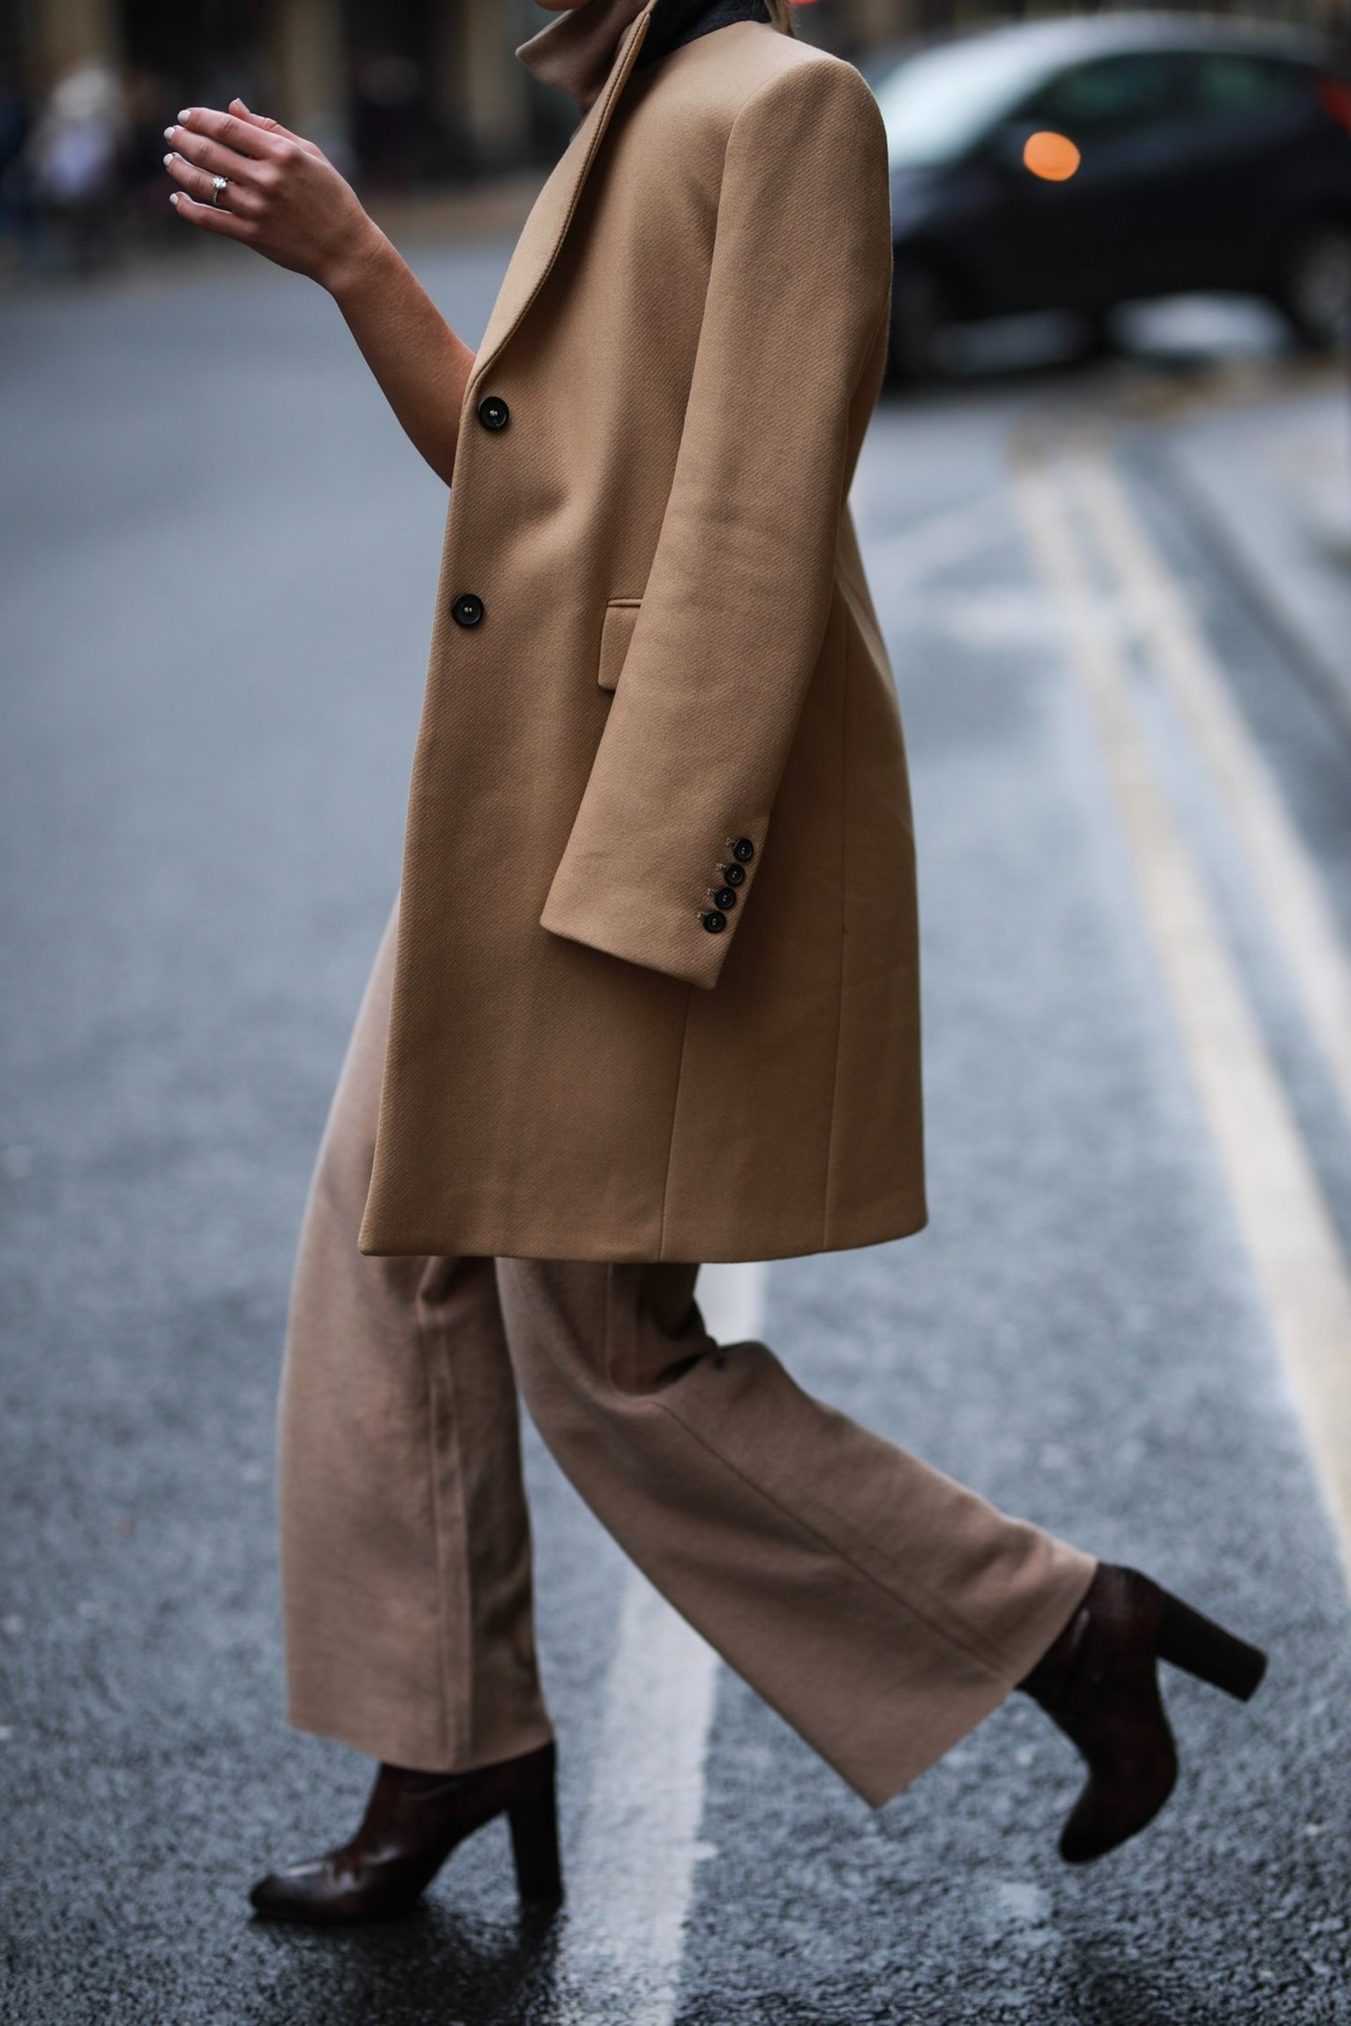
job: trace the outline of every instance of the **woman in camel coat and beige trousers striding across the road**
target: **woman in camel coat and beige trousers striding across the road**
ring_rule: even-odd
[[[403,887],[318,1157],[282,1386],[290,1716],[379,1761],[263,1878],[409,1906],[510,1817],[561,1896],[516,1392],[670,1603],[881,1805],[1013,1688],[1175,1779],[1157,1663],[1262,1655],[717,1345],[703,1260],[924,1224],[913,847],[845,504],[891,233],[863,79],[786,0],[545,0],[583,109],[474,357],[308,142],[168,130],[178,211],[310,274],[452,484]]]

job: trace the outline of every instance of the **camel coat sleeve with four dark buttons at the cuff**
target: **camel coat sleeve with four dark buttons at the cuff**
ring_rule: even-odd
[[[717,983],[774,849],[889,286],[877,103],[845,63],[794,63],[727,142],[674,482],[547,930]],[[715,908],[729,863],[737,904]]]

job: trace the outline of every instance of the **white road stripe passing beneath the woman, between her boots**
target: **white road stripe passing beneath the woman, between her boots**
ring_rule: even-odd
[[[719,1343],[764,1327],[764,1266],[705,1266],[699,1303]],[[670,2026],[695,1890],[717,1655],[630,1570],[577,1852],[567,1866],[559,2016]]]

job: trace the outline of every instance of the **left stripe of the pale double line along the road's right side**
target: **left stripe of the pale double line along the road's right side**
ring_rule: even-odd
[[[1199,867],[1159,782],[1120,648],[1100,622],[1063,472],[1057,482],[1045,464],[1023,466],[1015,492],[1031,551],[1065,614],[1144,920],[1351,1572],[1351,1274]]]

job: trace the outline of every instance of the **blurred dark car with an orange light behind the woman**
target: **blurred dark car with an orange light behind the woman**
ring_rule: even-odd
[[[891,363],[962,320],[1242,290],[1351,336],[1351,85],[1317,32],[1096,14],[869,65],[895,235]]]

